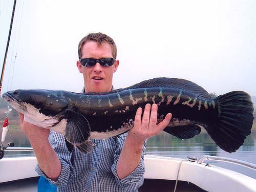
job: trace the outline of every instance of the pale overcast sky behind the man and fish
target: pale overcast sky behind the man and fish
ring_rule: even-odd
[[[0,65],[13,1],[0,0]],[[111,36],[116,89],[154,77],[193,81],[217,95],[256,96],[256,1],[33,1],[16,4],[2,92],[80,92],[77,46],[90,32]]]

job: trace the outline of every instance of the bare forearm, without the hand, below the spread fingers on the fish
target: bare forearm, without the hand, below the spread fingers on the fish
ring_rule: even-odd
[[[144,142],[137,141],[128,134],[116,165],[119,179],[123,179],[137,168],[141,160],[143,144]]]

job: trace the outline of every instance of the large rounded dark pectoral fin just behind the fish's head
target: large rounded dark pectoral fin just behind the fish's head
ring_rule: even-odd
[[[65,114],[68,124],[66,126],[66,139],[74,145],[80,145],[89,140],[91,127],[83,115],[72,110]]]

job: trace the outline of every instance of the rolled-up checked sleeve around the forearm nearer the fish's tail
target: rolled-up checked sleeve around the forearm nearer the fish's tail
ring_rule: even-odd
[[[116,182],[121,188],[127,187],[127,185],[131,185],[131,184],[138,185],[138,188],[139,188],[139,186],[141,186],[143,184],[143,179],[144,179],[143,175],[145,173],[144,154],[146,151],[146,141],[144,142],[144,145],[142,148],[139,165],[136,167],[135,170],[133,170],[132,173],[130,173],[129,175],[127,175],[126,177],[124,177],[122,179],[119,179],[119,177],[117,175],[117,171],[116,171],[116,165],[117,165],[117,161],[120,156],[126,136],[127,136],[127,133],[117,136],[117,145],[118,146],[114,153],[114,164],[112,165],[111,168],[112,168],[112,172],[113,172],[114,176],[116,177]]]

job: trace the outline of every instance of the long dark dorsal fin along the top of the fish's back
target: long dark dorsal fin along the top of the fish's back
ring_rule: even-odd
[[[202,99],[211,99],[210,95],[207,91],[205,91],[198,84],[178,78],[167,78],[167,77],[159,77],[149,80],[144,80],[140,83],[134,84],[131,87],[125,89],[136,89],[136,88],[153,88],[153,87],[164,87],[164,88],[173,88],[189,91],[194,93],[199,98]]]

